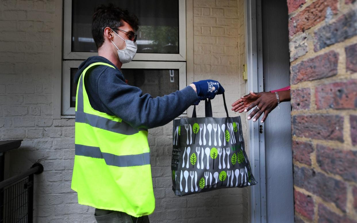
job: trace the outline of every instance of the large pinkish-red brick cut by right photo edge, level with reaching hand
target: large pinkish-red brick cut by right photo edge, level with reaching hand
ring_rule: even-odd
[[[317,109],[357,108],[357,80],[329,83],[317,86],[315,90]]]

